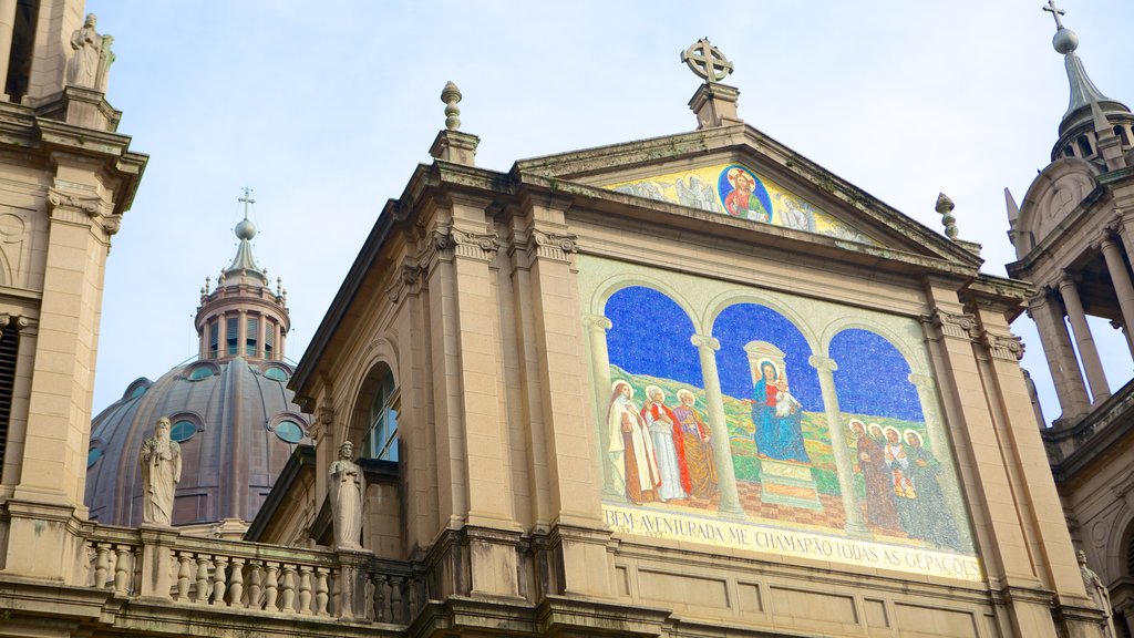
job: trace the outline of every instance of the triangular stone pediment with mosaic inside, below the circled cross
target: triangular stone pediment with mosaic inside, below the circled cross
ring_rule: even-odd
[[[522,173],[809,235],[979,267],[981,259],[751,126],[523,160]]]

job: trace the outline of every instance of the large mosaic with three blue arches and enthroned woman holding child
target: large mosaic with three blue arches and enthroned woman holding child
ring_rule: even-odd
[[[983,578],[916,320],[579,266],[611,528]]]

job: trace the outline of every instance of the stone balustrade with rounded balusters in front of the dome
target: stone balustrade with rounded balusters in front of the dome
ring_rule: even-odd
[[[86,585],[151,603],[407,624],[425,591],[408,562],[98,526]]]

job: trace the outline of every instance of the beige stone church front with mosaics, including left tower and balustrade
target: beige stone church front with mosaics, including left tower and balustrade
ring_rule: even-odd
[[[3,170],[48,232],[10,314],[37,333],[9,363],[0,635],[1105,635],[1008,328],[1032,288],[980,272],[946,198],[942,236],[745,124],[706,40],[695,131],[508,171],[447,85],[289,380],[314,445],[249,539],[90,520],[104,233],[144,158],[107,131],[93,20],[16,7],[43,56],[0,109],[43,140]],[[198,328],[266,344],[209,295]]]

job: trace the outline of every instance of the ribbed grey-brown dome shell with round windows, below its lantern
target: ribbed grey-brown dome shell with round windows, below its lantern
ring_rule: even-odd
[[[103,410],[91,429],[86,504],[107,524],[142,522],[138,450],[169,417],[181,446],[174,524],[251,521],[298,444],[310,444],[310,418],[285,387],[290,366],[203,360],[156,381],[138,379]]]

